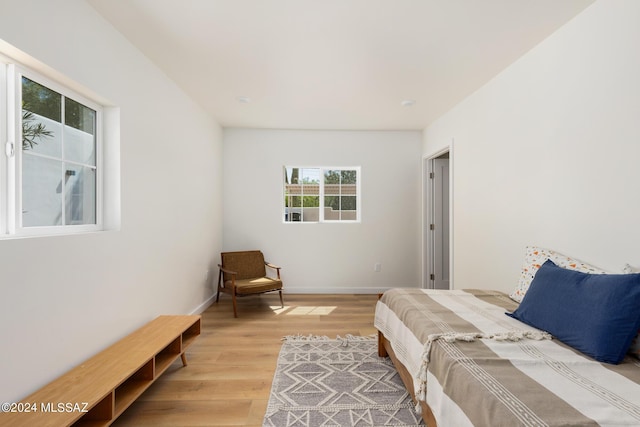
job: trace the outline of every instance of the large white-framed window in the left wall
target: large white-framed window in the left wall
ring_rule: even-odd
[[[100,230],[102,106],[20,64],[0,66],[2,234]]]

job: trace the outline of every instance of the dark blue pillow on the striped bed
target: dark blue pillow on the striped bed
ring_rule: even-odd
[[[586,274],[548,260],[507,315],[596,360],[618,364],[640,327],[640,274]]]

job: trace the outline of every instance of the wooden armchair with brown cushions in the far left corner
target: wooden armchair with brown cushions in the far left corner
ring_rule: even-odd
[[[231,294],[234,317],[238,317],[236,297],[278,291],[284,308],[280,267],[266,262],[261,251],[222,252],[220,258],[216,302],[220,292]],[[266,267],[275,270],[277,278],[268,277]]]

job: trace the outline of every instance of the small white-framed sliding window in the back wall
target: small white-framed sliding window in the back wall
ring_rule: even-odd
[[[284,221],[360,221],[360,168],[285,166]]]

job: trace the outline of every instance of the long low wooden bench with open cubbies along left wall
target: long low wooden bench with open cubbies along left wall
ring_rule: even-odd
[[[0,413],[0,425],[108,426],[200,335],[200,316],[160,316]]]

